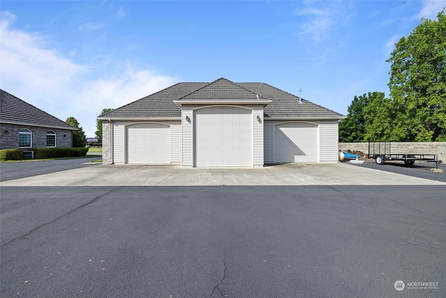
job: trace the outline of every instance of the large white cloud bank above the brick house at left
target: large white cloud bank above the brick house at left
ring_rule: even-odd
[[[88,67],[77,64],[52,50],[43,34],[11,29],[13,14],[5,11],[0,17],[0,88],[63,121],[75,117],[89,137],[103,108],[119,107],[176,82],[131,64],[114,70],[102,68],[107,65],[103,61]],[[112,65],[121,62],[115,59]]]

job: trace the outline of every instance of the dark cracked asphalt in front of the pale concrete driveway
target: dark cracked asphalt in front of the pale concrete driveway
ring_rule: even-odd
[[[446,297],[445,193],[2,186],[0,295]],[[398,292],[399,280],[438,288]]]

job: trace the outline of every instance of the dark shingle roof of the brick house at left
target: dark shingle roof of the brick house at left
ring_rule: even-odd
[[[48,128],[62,128],[72,131],[77,129],[1,89],[0,122],[8,124],[27,124],[30,126],[42,126]]]

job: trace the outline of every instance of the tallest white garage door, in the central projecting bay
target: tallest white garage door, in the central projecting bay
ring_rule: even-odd
[[[252,167],[252,111],[207,107],[194,114],[196,167]]]

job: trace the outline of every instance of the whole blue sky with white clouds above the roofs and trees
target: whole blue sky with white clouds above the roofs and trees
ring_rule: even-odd
[[[445,0],[8,1],[0,88],[88,137],[105,107],[177,82],[265,82],[347,113],[383,91],[390,52]]]

